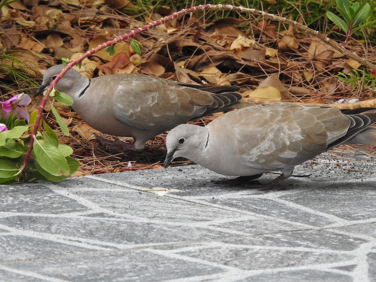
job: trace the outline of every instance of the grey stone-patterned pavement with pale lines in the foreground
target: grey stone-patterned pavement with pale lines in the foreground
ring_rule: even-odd
[[[266,192],[198,165],[2,185],[0,281],[376,281],[376,164],[344,165]]]

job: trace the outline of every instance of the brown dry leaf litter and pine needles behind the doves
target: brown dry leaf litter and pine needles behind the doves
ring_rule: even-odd
[[[162,7],[141,19],[124,12],[126,8],[135,8],[127,0],[42,3],[44,5],[38,0],[17,1],[1,9],[0,50],[24,64],[9,60],[2,60],[0,64],[23,70],[29,76],[15,79],[6,68],[0,68],[0,78],[4,81],[0,85],[2,99],[14,96],[16,91],[26,91],[32,96],[37,84],[31,87],[30,82],[40,82],[50,65],[59,64],[62,58],[75,59],[92,47],[174,12]],[[358,99],[362,106],[367,106],[367,101],[374,98],[375,91],[371,87],[363,87],[359,82],[353,89],[353,85],[334,77],[338,72],[346,74],[352,73],[352,69],[361,69],[358,62],[294,27],[278,29],[278,23],[249,14],[212,20],[206,18],[205,13],[197,12],[136,35],[135,39],[142,45],[141,56],[135,54],[129,39],[115,45],[115,55],[102,50],[83,60],[81,68],[75,68],[88,78],[111,73],[141,73],[184,83],[232,84],[241,88],[244,100],[256,102],[334,105],[340,99]],[[370,42],[353,40],[346,48],[375,61],[376,49]],[[34,111],[40,102],[40,98],[33,99],[28,111]],[[80,169],[74,176],[162,167],[165,133],[148,141],[137,161],[129,161],[117,148],[98,144],[93,133],[126,142],[131,142],[132,138],[99,133],[69,107],[57,102],[53,105],[67,124],[70,135],[60,132],[53,115],[49,114],[51,107],[45,108],[45,121],[58,134],[59,143],[73,148],[72,156],[80,162]],[[351,106],[350,103],[341,105]],[[205,125],[218,115],[194,123]],[[340,148],[330,151],[334,152],[331,154],[346,158],[360,147]],[[372,147],[361,148],[368,156],[374,153]],[[180,159],[174,164],[192,162]]]

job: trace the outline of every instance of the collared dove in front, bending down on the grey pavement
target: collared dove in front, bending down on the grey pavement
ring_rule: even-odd
[[[177,157],[188,158],[216,173],[256,179],[282,174],[269,190],[302,164],[340,144],[376,145],[376,108],[340,111],[294,104],[255,105],[228,112],[207,126],[182,124],[166,138],[164,167]],[[241,178],[239,177],[239,178]]]

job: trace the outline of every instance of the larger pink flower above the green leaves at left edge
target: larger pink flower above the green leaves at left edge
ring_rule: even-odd
[[[17,116],[18,119],[24,118],[27,120],[27,122],[30,121],[30,115],[27,111],[25,111],[20,106],[27,106],[31,102],[31,98],[29,95],[26,95],[24,93],[16,94],[11,99],[6,100],[5,102],[0,102],[0,105],[2,107],[2,113],[4,118],[9,118],[9,115],[11,115],[12,110],[13,111],[13,117]],[[14,105],[16,107],[14,108]]]

